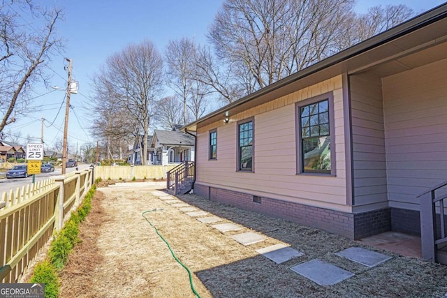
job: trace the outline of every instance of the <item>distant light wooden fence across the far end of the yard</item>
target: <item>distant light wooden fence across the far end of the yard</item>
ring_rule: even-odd
[[[94,167],[94,176],[103,180],[165,179],[176,165],[99,165]]]

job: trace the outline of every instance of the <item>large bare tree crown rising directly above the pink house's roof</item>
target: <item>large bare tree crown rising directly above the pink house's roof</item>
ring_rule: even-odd
[[[197,80],[232,102],[413,15],[406,6],[387,6],[359,16],[354,5],[354,0],[226,0],[208,36],[217,59],[205,48],[198,51]]]

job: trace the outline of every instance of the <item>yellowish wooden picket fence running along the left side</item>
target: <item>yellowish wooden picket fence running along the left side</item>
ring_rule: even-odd
[[[91,170],[11,190],[0,200],[0,283],[17,283],[92,184]],[[4,206],[4,207],[2,207]]]

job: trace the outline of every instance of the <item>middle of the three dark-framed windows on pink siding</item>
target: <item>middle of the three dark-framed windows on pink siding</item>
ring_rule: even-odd
[[[253,120],[241,122],[237,128],[238,170],[253,172]]]

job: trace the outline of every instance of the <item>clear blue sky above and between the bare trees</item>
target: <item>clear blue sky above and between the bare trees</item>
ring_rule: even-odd
[[[67,73],[64,66],[67,63],[64,57],[73,60],[73,80],[79,82],[79,93],[71,95],[73,110],[68,117],[68,144],[74,151],[76,145],[79,149],[87,142],[96,144],[96,140],[89,136],[90,119],[87,109],[91,107],[91,77],[98,72],[105,59],[120,52],[126,45],[140,43],[146,38],[152,40],[161,53],[169,40],[182,37],[195,38],[198,43],[205,43],[207,29],[222,1],[76,0],[53,3],[65,8],[65,20],[59,23],[58,35],[66,40],[66,48],[52,61],[50,73],[53,78],[50,86],[66,86]],[[399,3],[405,3],[421,13],[444,1],[358,0],[356,10],[365,13],[370,6]],[[13,132],[22,132],[23,143],[27,142],[27,135],[40,140],[42,117],[46,119],[43,133],[45,144],[52,147],[63,136],[65,105],[61,104],[64,91],[41,87],[37,89],[36,96],[47,92],[50,94],[36,99],[44,105],[42,111],[31,114],[27,119],[19,119],[8,127]],[[61,110],[58,113],[59,107]]]

